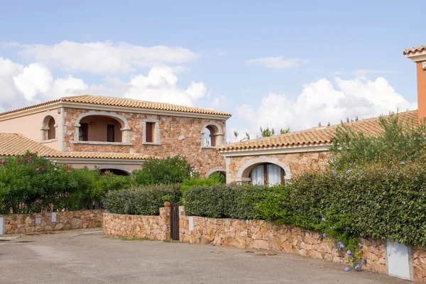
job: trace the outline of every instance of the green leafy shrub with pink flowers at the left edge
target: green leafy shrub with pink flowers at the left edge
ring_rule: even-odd
[[[0,214],[89,209],[108,190],[130,185],[130,177],[16,155],[0,160]]]

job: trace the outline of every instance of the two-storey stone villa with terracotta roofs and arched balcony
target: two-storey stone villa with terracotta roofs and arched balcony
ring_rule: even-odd
[[[82,95],[0,114],[0,156],[37,152],[75,168],[129,175],[149,156],[185,155],[203,175],[224,173],[216,146],[231,114]]]

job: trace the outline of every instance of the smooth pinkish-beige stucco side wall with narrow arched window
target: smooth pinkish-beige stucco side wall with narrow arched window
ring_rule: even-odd
[[[20,116],[13,119],[2,120],[0,118],[0,132],[2,133],[19,133],[23,136],[32,139],[36,142],[42,141],[41,127],[43,125],[43,119],[46,115],[53,116],[55,119],[56,127],[56,141],[50,141],[45,143],[46,146],[61,150],[62,141],[62,112],[58,114],[57,109],[50,109],[47,111],[40,111],[35,114],[28,114],[26,116]]]

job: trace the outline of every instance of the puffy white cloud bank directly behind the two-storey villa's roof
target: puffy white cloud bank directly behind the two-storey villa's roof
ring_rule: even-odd
[[[183,89],[175,72],[171,67],[153,67],[148,75],[131,77],[129,82],[107,76],[105,84],[87,85],[84,80],[72,75],[53,78],[48,67],[39,63],[25,67],[0,57],[0,112],[79,94],[195,106],[207,94],[206,85],[191,82]]]

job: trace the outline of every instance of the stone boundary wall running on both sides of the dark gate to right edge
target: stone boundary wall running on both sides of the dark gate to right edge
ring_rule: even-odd
[[[347,263],[346,250],[317,231],[277,225],[263,220],[187,217],[180,207],[180,241],[190,244],[234,246],[239,249],[283,251],[324,261]],[[170,208],[160,208],[160,216],[104,213],[104,234],[129,238],[170,240]],[[366,263],[363,269],[386,271],[386,240],[361,239]],[[426,283],[426,246],[411,246],[413,280]],[[346,267],[342,265],[342,269]]]

